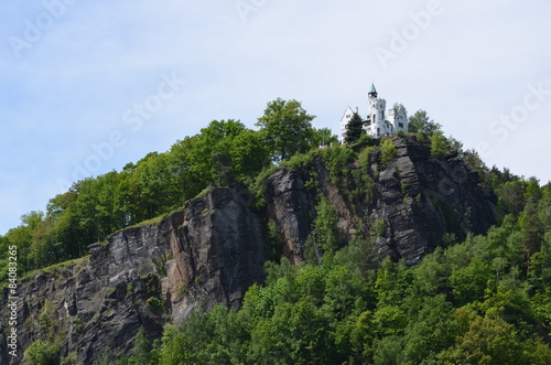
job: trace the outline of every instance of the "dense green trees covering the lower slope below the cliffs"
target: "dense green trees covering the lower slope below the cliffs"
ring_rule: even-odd
[[[376,228],[335,249],[321,202],[322,264],[268,262],[241,310],[196,311],[118,364],[551,364],[551,185],[479,168],[499,197],[487,235],[379,264]]]

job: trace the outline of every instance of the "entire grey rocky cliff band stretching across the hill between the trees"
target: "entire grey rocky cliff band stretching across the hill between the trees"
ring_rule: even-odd
[[[20,363],[41,340],[58,346],[62,357],[93,364],[107,348],[129,353],[141,326],[153,340],[194,308],[239,308],[247,288],[263,280],[269,227],[278,254],[304,260],[307,243],[316,245],[321,200],[334,212],[337,246],[374,239],[381,258],[410,265],[450,237],[487,230],[495,197],[456,153],[437,160],[411,137],[393,143],[386,163],[380,148],[369,148],[339,163],[320,153],[281,167],[264,180],[261,206],[242,184],[212,189],[159,222],[91,245],[85,258],[28,275],[18,289],[19,357],[8,353],[4,320],[0,363]],[[4,289],[2,308],[7,302]]]

